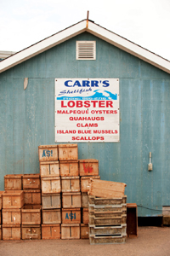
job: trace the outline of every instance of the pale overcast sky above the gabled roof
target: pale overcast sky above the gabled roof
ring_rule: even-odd
[[[87,18],[170,61],[170,0],[0,0],[0,51],[20,51]]]

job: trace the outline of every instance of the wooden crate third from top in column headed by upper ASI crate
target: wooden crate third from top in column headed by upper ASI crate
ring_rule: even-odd
[[[42,177],[42,194],[54,194],[60,191],[60,177]]]

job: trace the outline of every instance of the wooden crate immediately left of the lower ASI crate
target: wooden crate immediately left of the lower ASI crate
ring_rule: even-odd
[[[60,209],[42,209],[42,224],[60,224],[61,210]]]

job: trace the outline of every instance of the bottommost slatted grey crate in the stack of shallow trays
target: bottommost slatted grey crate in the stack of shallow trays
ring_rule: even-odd
[[[122,235],[89,235],[90,244],[117,244],[125,243],[127,241],[127,236]]]

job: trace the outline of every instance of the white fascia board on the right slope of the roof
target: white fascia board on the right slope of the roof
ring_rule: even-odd
[[[151,53],[149,50],[144,49],[137,44],[133,44],[127,39],[122,38],[115,33],[110,32],[105,28],[98,26],[90,21],[88,22],[87,31],[94,34],[98,38],[101,38],[106,42],[126,51],[127,53],[139,57],[139,59],[146,61],[167,73],[170,73],[170,61],[167,61],[160,56]]]

